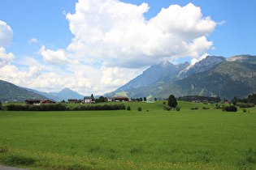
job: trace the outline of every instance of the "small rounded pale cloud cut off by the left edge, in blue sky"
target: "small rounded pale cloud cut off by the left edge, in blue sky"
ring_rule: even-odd
[[[0,20],[0,46],[7,46],[11,43],[13,36],[12,29],[7,23]]]

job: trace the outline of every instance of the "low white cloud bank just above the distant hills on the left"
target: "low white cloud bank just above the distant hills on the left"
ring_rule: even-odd
[[[69,87],[76,89],[80,94],[87,94],[93,88],[91,81],[80,74],[63,71],[47,72],[39,66],[29,66],[28,70],[20,70],[14,65],[2,66],[0,67],[0,79],[39,91],[56,92]]]

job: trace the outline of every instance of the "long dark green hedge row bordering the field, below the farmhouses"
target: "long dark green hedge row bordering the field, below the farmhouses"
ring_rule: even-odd
[[[125,109],[124,104],[114,105],[80,105],[75,108],[67,107],[66,104],[40,104],[40,105],[20,105],[9,104],[5,107],[8,111],[83,111],[83,110],[121,110]]]

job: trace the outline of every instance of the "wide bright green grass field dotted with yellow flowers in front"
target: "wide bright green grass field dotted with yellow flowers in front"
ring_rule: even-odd
[[[41,169],[256,169],[256,108],[0,112],[0,164]],[[138,112],[137,107],[142,111]],[[202,107],[210,108],[202,110]],[[197,107],[198,110],[190,108]]]

